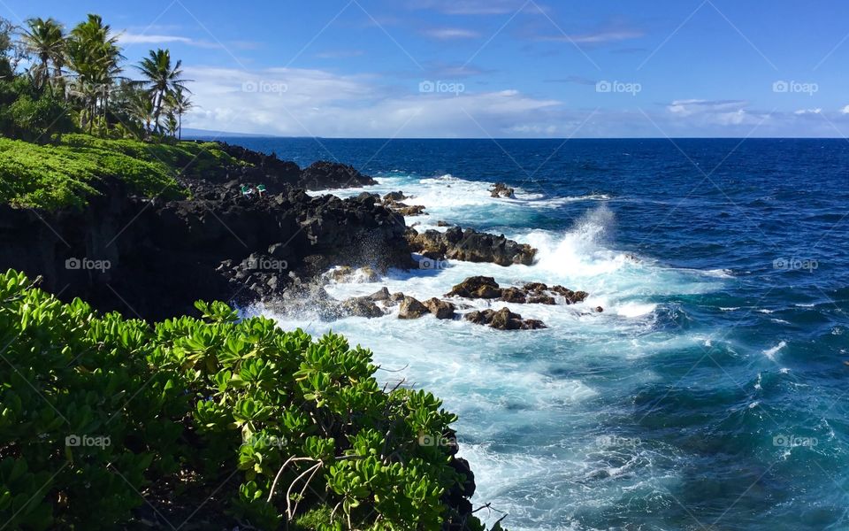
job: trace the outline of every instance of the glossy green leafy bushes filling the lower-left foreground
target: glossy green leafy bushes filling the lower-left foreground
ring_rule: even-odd
[[[214,495],[195,515],[214,527],[223,511],[260,529],[440,529],[463,477],[421,443],[456,419],[438,399],[381,389],[371,352],[338,335],[196,305],[203,319],[151,327],[0,274],[8,528],[130,527],[142,496],[187,518]]]

